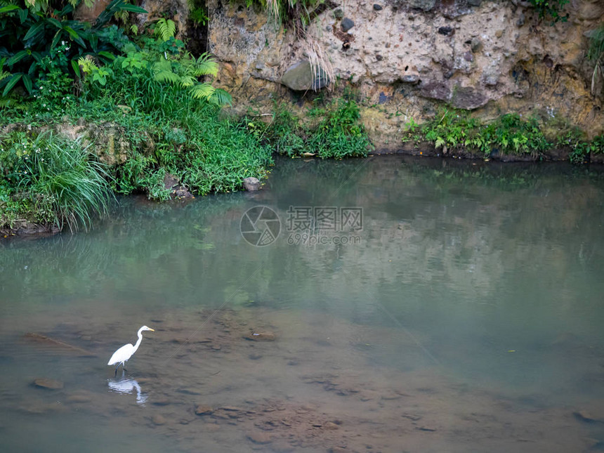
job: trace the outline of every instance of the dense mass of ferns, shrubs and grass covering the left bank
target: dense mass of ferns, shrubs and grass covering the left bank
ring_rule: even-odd
[[[117,25],[103,26],[116,11],[143,11],[124,1],[112,1],[95,25],[71,19],[77,1],[64,11],[30,3],[0,4],[0,33],[16,37],[0,48],[2,55],[13,54],[0,60],[6,94],[0,107],[3,122],[17,125],[0,137],[0,228],[16,221],[88,228],[93,217],[107,213],[113,192],[168,199],[168,173],[202,195],[239,190],[243,178],[265,176],[269,148],[244,123],[221,117],[230,95],[204,80],[218,65],[209,55],[185,51],[172,20],[157,20],[151,34],[131,39]],[[25,15],[29,22],[21,25]],[[55,18],[62,24],[57,39],[48,36],[58,27]],[[125,161],[107,166],[83,142],[27,132],[76,121],[119,131],[119,140],[129,144]],[[86,143],[103,138],[86,135]]]

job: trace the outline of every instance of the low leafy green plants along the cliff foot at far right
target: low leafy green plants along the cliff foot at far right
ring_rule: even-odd
[[[403,141],[427,141],[444,154],[467,151],[489,157],[493,152],[541,157],[552,147],[570,147],[570,162],[583,162],[590,152],[604,152],[604,136],[591,142],[578,129],[546,136],[544,122],[537,116],[523,118],[518,113],[503,114],[490,123],[472,118],[461,110],[440,110],[433,119],[407,123]]]

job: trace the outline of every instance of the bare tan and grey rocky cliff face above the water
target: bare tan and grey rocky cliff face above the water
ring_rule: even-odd
[[[553,26],[517,0],[375,1],[331,2],[307,36],[331,64],[336,85],[360,91],[378,147],[395,149],[409,119],[421,122],[443,103],[485,119],[537,109],[602,133],[601,89],[590,93],[585,53],[586,35],[604,20],[603,1],[571,1],[569,20]],[[221,62],[217,82],[237,108],[300,98],[282,84],[289,68],[308,59],[308,44],[293,29],[227,0],[209,0],[208,9],[208,50]],[[285,81],[299,89],[313,80],[301,75],[297,86]]]

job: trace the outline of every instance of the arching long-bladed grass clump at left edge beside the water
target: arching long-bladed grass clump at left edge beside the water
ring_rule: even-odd
[[[0,226],[18,221],[89,228],[109,211],[107,167],[78,141],[52,133],[0,138]]]

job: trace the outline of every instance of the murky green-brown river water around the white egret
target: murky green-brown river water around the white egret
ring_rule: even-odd
[[[602,451],[603,224],[597,169],[279,159],[0,242],[1,449]]]

